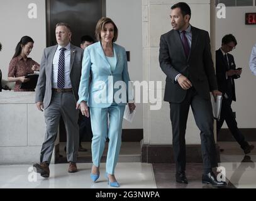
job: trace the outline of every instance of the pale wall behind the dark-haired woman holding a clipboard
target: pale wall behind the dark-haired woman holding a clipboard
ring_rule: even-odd
[[[37,18],[30,19],[28,5],[34,3],[37,8]],[[45,1],[42,0],[9,0],[0,3],[0,24],[3,50],[0,52],[0,68],[3,79],[7,79],[9,62],[22,36],[30,36],[35,41],[30,54],[40,63],[43,48],[46,46]]]

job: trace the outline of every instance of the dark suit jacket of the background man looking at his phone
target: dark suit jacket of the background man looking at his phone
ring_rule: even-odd
[[[235,70],[236,65],[234,61],[233,55],[228,55],[228,62],[230,63],[229,68]],[[233,75],[232,77],[228,77],[226,79],[226,72],[228,71],[228,67],[226,67],[225,58],[223,57],[223,53],[221,50],[216,50],[216,77],[218,82],[219,90],[223,93],[223,95],[226,93],[227,95],[231,94],[231,99],[236,100],[235,95],[235,82],[234,79],[238,79],[240,76]],[[232,81],[231,81],[232,80]],[[231,82],[233,84],[231,84]],[[230,86],[230,87],[229,87]]]

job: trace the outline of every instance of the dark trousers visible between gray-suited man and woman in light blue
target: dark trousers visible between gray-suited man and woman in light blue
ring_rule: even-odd
[[[79,145],[82,140],[91,141],[92,139],[92,128],[91,128],[91,117],[83,116],[79,112]]]

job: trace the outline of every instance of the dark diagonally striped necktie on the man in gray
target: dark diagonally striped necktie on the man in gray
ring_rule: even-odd
[[[66,48],[60,48],[60,57],[58,58],[58,89],[64,89],[65,86],[65,50]]]

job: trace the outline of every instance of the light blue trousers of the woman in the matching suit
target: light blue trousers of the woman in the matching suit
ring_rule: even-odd
[[[122,122],[125,106],[112,104],[107,108],[90,107],[92,125],[92,163],[99,166],[109,138],[106,172],[113,175],[121,147]],[[109,127],[108,127],[109,114]]]

